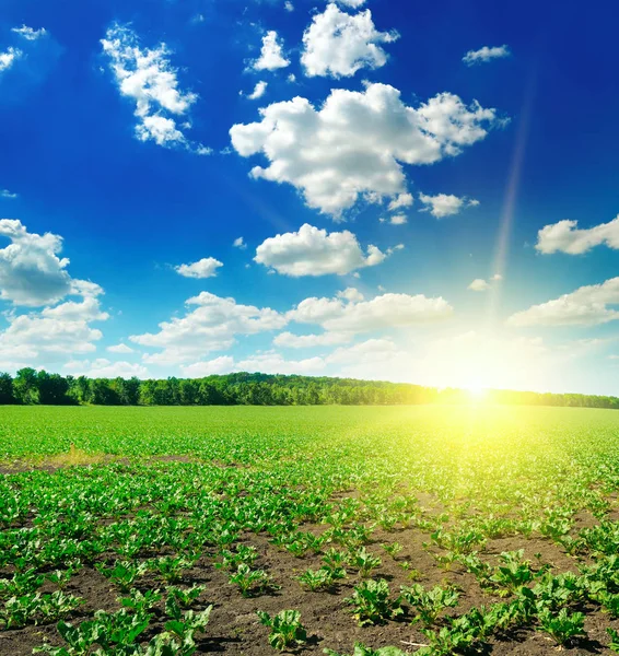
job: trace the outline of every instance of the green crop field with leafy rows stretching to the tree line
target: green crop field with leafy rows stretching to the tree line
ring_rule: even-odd
[[[619,653],[619,413],[0,407],[0,654]]]

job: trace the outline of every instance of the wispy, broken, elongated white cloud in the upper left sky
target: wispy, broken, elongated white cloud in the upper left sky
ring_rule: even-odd
[[[120,94],[136,103],[138,139],[209,153],[203,145],[191,143],[177,124],[183,119],[180,128],[190,127],[188,114],[198,96],[178,89],[178,71],[170,62],[166,45],[141,48],[136,32],[118,23],[109,27],[101,43]]]

